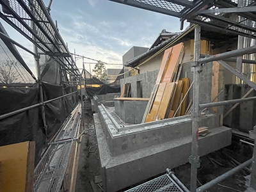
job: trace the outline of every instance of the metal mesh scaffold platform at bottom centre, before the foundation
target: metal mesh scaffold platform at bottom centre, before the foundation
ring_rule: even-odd
[[[183,192],[183,190],[176,184],[176,182],[168,175],[164,174],[156,179],[152,179],[148,182],[141,184],[135,188],[129,189],[125,192]]]

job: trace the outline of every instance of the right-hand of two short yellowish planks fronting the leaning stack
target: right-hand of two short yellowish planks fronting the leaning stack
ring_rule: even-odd
[[[173,92],[175,90],[175,85],[176,83],[167,83],[164,93],[163,93],[163,98],[161,100],[161,103],[159,105],[159,111],[157,113],[157,119],[162,120],[166,116],[166,111],[168,108],[168,104],[171,100],[171,97],[173,95]]]

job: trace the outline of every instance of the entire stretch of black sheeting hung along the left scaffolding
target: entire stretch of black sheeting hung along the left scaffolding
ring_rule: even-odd
[[[42,83],[44,100],[54,99],[76,91],[76,87],[58,86]],[[26,108],[40,102],[39,84],[19,84],[19,86],[0,86],[0,115],[17,109]],[[77,92],[45,104],[45,116],[48,125],[45,133],[41,107],[29,109],[17,115],[0,120],[0,146],[36,141],[35,163],[40,160],[45,141],[53,136],[77,104]]]

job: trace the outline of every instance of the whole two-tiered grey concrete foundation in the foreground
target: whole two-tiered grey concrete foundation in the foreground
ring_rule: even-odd
[[[212,114],[202,118],[200,126],[209,127],[211,133],[199,138],[200,156],[231,144],[231,129],[219,127],[219,119]],[[118,191],[163,173],[166,168],[188,163],[189,116],[123,126],[104,106],[99,106],[94,120],[105,191]]]

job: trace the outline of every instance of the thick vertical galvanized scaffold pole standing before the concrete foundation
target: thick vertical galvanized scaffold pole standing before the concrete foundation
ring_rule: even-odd
[[[191,187],[190,191],[196,191],[196,178],[197,178],[197,168],[200,166],[198,162],[198,127],[199,127],[199,73],[200,65],[197,61],[200,58],[200,39],[201,39],[201,27],[197,26],[195,28],[195,43],[194,43],[194,61],[193,62],[193,112],[191,113],[192,118],[192,147],[191,156],[189,157],[189,163],[191,163]]]

